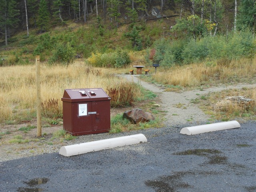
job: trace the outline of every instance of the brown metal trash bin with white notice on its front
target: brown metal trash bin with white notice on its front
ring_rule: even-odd
[[[110,99],[102,88],[65,89],[63,129],[74,136],[108,132]]]

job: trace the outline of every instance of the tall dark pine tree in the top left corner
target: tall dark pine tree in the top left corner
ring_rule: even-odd
[[[8,45],[8,36],[10,38],[9,28],[14,30],[18,24],[19,11],[16,8],[16,1],[14,0],[0,0],[0,28],[4,29],[5,45]]]

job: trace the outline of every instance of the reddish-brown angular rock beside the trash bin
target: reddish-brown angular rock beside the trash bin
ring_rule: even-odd
[[[149,122],[150,120],[155,119],[149,112],[144,112],[142,109],[138,108],[124,112],[124,118],[129,119],[130,122],[134,124],[139,122]]]

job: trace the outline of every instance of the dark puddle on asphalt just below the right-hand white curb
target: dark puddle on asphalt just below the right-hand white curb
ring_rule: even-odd
[[[228,158],[220,155],[222,152],[215,149],[192,149],[183,152],[174,153],[174,155],[197,155],[207,157],[209,164],[226,164]]]

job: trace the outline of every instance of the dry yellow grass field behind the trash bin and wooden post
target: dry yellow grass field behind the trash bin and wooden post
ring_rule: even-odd
[[[103,88],[115,86],[120,79],[110,70],[84,66],[47,66],[41,63],[41,101],[61,98],[68,88]],[[35,65],[2,67],[0,71],[0,122],[16,120],[36,112]]]

